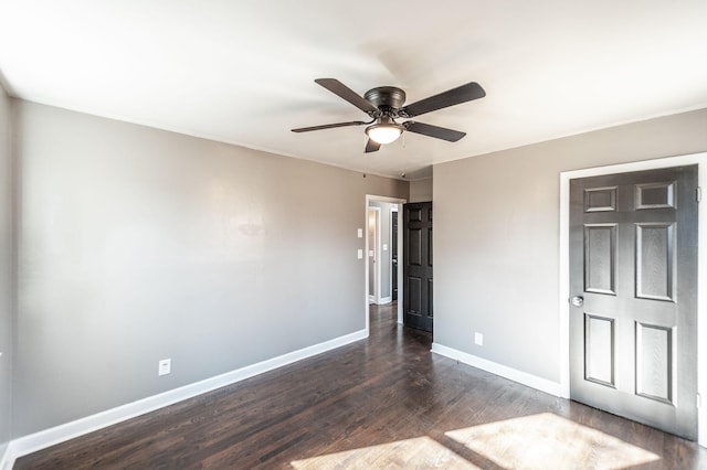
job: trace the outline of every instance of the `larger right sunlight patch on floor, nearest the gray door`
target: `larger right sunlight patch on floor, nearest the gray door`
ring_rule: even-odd
[[[659,460],[655,453],[551,413],[445,434],[507,469],[622,469]]]

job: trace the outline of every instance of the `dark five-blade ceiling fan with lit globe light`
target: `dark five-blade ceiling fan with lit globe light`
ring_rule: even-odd
[[[372,120],[368,122],[354,120],[348,122],[325,124],[323,126],[300,127],[292,129],[292,131],[308,132],[310,130],[333,129],[336,127],[369,125],[366,128],[366,135],[368,136],[368,142],[366,143],[367,153],[377,151],[381,145],[395,141],[403,130],[456,142],[466,136],[466,132],[414,120],[398,124],[395,119],[413,118],[425,113],[486,96],[486,92],[484,92],[484,88],[482,88],[479,84],[471,82],[466,85],[457,86],[456,88],[447,89],[446,92],[403,106],[405,103],[405,92],[394,86],[379,86],[369,89],[363,96],[360,96],[336,78],[317,78],[315,83],[321,85],[340,98],[346,99],[366,113]]]

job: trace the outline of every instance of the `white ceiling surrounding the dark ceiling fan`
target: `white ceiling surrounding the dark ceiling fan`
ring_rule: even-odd
[[[0,0],[11,95],[395,178],[437,162],[707,107],[705,0]],[[478,82],[485,98],[363,153],[367,120],[314,83],[408,103]]]

